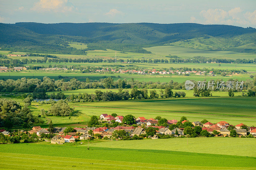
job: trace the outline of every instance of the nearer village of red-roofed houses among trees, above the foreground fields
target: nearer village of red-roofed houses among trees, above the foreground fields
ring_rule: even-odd
[[[101,114],[99,121],[105,124],[123,123],[123,116],[112,116],[108,114]],[[135,119],[135,118],[134,118]],[[49,128],[41,128],[40,126],[32,127],[30,131],[19,130],[19,134],[25,133],[28,136],[37,136],[38,138],[46,138],[51,134],[51,144],[75,143],[82,140],[93,140],[93,138],[103,138],[108,140],[122,140],[119,133],[133,139],[158,139],[161,135],[162,138],[185,138],[191,137],[189,128],[199,129],[200,135],[197,137],[239,137],[239,138],[256,138],[256,127],[247,127],[243,123],[232,125],[225,121],[220,121],[216,124],[211,122],[201,123],[200,121],[189,122],[188,120],[181,121],[183,128],[175,127],[179,121],[172,119],[167,120],[167,126],[159,125],[160,120],[154,118],[146,119],[145,117],[138,117],[135,119],[136,124],[132,126],[124,124],[124,126],[117,125],[116,127],[55,127],[50,132]],[[189,126],[189,124],[191,126]],[[186,127],[189,128],[186,128]],[[150,129],[150,130],[149,130]],[[67,131],[68,130],[68,131]],[[14,131],[15,132],[15,131]],[[14,133],[12,132],[12,133]],[[17,131],[16,131],[17,132]],[[0,130],[3,135],[12,136],[12,133],[6,130]],[[248,135],[248,136],[247,136]],[[192,135],[193,136],[193,135]],[[1,139],[1,138],[0,138]],[[47,141],[47,139],[45,139]]]

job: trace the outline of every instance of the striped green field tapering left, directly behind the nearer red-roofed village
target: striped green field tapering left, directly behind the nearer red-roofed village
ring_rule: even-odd
[[[204,97],[179,99],[147,99],[116,102],[72,103],[77,111],[86,115],[102,113],[132,114],[135,117],[177,119],[186,116],[189,121],[204,118],[212,123],[225,120],[229,124],[256,125],[256,99],[253,97]]]

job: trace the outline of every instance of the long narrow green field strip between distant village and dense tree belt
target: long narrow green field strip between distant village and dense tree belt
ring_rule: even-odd
[[[210,81],[210,80],[216,80],[216,79],[222,79],[223,81],[227,81],[228,79],[237,79],[238,81],[246,81],[247,79],[251,79],[249,77],[249,74],[234,74],[233,76],[203,76],[203,75],[190,75],[190,76],[183,76],[183,75],[139,75],[139,74],[99,74],[99,73],[81,73],[80,71],[77,72],[67,72],[67,71],[22,71],[22,72],[4,72],[0,73],[1,79],[7,80],[7,79],[13,79],[17,80],[23,77],[26,78],[38,78],[42,79],[44,76],[47,76],[51,79],[59,80],[58,76],[61,75],[64,77],[64,80],[70,80],[72,78],[76,78],[80,81],[85,81],[86,78],[89,78],[90,80],[100,80],[106,77],[110,76],[116,76],[114,77],[114,81],[118,79],[127,79],[131,80],[132,78],[134,80],[138,81],[160,81],[160,82],[169,82],[169,81],[176,81],[176,82],[184,82],[186,80],[195,80],[195,81]],[[117,77],[117,76],[120,77]],[[252,79],[251,79],[252,80]]]

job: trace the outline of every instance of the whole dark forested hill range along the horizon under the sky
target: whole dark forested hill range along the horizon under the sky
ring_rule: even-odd
[[[37,53],[86,53],[83,50],[68,47],[69,41],[87,43],[87,50],[110,48],[138,53],[149,53],[140,47],[163,44],[173,45],[171,43],[202,37],[215,37],[218,40],[218,44],[222,45],[213,48],[211,47],[212,39],[207,42],[199,39],[200,43],[205,42],[202,45],[207,46],[208,50],[211,50],[211,48],[212,50],[225,50],[256,41],[256,29],[254,28],[194,23],[43,24],[29,22],[0,24],[0,32],[0,47],[2,49]],[[188,44],[186,46],[190,47]],[[177,46],[176,44],[174,45]],[[184,46],[184,43],[178,46]]]

